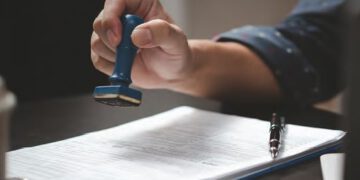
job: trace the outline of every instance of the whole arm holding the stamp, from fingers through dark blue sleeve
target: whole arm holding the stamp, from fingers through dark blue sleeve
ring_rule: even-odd
[[[115,20],[128,9],[147,21],[132,35],[141,49],[133,67],[137,86],[221,101],[285,99],[305,105],[341,88],[341,0],[300,1],[280,25],[235,29],[220,35],[217,43],[187,41],[158,1],[140,2],[106,1],[92,38],[92,60],[100,71],[111,73],[113,49],[120,40],[116,33],[104,32],[109,27],[121,29]]]

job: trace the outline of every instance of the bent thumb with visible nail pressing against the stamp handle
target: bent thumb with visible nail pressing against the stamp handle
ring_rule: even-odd
[[[160,47],[170,55],[181,55],[187,50],[184,48],[187,47],[187,39],[182,30],[160,19],[139,25],[131,37],[139,48]]]

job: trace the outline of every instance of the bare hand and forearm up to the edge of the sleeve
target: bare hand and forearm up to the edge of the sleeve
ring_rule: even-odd
[[[248,47],[187,40],[157,0],[105,2],[94,21],[91,43],[92,61],[98,70],[112,73],[114,49],[121,39],[118,17],[124,9],[146,21],[132,34],[140,48],[132,69],[136,86],[220,101],[273,101],[281,97],[273,73]]]

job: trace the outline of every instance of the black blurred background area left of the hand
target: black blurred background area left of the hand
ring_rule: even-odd
[[[105,81],[89,54],[92,21],[102,4],[2,1],[0,74],[20,102],[88,93]]]

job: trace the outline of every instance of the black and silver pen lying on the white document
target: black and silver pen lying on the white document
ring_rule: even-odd
[[[271,157],[275,159],[280,151],[281,136],[285,128],[285,119],[279,118],[276,113],[272,114],[270,120],[270,153]]]

